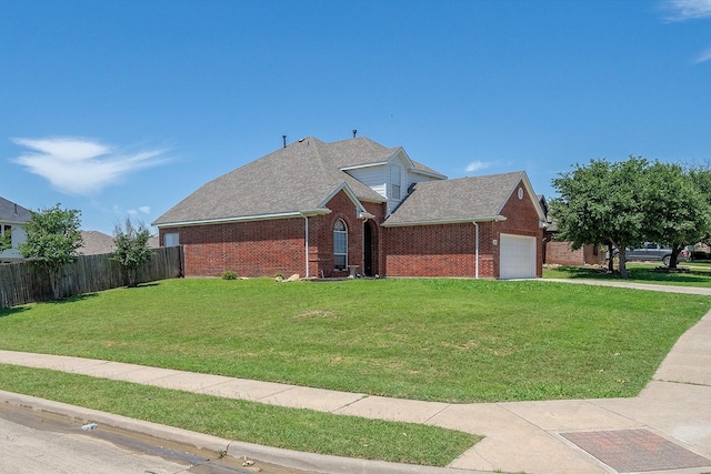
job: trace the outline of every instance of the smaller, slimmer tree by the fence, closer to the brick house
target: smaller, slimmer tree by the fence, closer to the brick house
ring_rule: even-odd
[[[151,260],[153,251],[148,246],[151,234],[142,222],[134,225],[129,218],[113,230],[116,251],[111,256],[121,264],[128,275],[129,286],[138,285],[138,268]]]

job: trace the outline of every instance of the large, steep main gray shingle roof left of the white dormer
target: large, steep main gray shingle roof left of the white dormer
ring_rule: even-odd
[[[343,184],[360,200],[384,202],[383,196],[339,168],[361,153],[365,154],[361,160],[370,154],[381,160],[392,155],[392,150],[398,149],[385,149],[362,138],[336,143],[302,139],[210,181],[153,225],[322,209],[324,200]]]

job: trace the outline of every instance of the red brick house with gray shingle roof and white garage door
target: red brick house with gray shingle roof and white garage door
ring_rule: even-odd
[[[187,275],[541,275],[544,213],[524,172],[448,180],[401,148],[307,138],[158,218]]]

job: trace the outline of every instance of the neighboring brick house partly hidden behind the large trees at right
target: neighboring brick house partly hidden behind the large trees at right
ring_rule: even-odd
[[[598,244],[585,244],[573,250],[571,242],[558,240],[560,231],[555,222],[548,216],[548,203],[542,194],[539,203],[545,213],[545,229],[543,230],[543,263],[558,265],[602,265],[605,261],[604,250]]]

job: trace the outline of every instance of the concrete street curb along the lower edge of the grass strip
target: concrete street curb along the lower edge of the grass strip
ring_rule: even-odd
[[[323,454],[303,453],[279,447],[262,446],[252,443],[229,441],[209,434],[134,420],[98,410],[84,409],[62,402],[39,399],[0,390],[0,402],[26,409],[49,412],[79,418],[83,422],[106,424],[118,428],[150,435],[157,438],[193,445],[216,453],[227,453],[234,458],[254,458],[282,467],[311,471],[324,474],[483,474],[483,471],[469,471],[451,467],[432,467],[412,464],[368,461],[352,457],[339,457]]]

